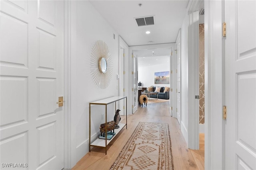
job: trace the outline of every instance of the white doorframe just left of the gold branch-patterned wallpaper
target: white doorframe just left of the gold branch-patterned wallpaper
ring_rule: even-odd
[[[199,149],[199,8],[202,1],[188,4],[188,148]],[[198,22],[198,25],[193,24]]]

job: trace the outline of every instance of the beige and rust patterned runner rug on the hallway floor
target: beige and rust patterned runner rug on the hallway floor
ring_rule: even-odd
[[[139,122],[110,170],[173,170],[168,123]]]

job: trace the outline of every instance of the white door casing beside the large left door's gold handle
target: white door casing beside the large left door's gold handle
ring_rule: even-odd
[[[76,84],[76,77],[71,72],[71,68],[76,70],[76,51],[72,50],[76,47],[76,34],[72,33],[76,30],[76,15],[72,15],[72,11],[76,11],[76,2],[64,1],[64,169],[76,164],[76,145],[72,142],[76,138],[76,120],[71,114],[76,113],[77,108],[76,98],[72,98],[72,94],[77,93],[72,86]]]

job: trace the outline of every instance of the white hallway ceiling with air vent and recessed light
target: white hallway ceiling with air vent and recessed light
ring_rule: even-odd
[[[175,43],[188,0],[90,0],[90,3],[128,46],[136,46]],[[134,18],[145,16],[154,16],[154,25],[138,27]]]

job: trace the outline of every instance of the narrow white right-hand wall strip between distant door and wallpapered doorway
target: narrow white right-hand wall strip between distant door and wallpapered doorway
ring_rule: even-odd
[[[188,15],[181,27],[181,131],[188,144]]]

